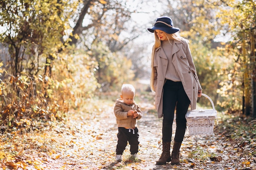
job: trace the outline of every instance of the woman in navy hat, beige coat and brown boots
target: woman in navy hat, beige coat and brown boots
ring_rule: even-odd
[[[163,117],[163,152],[157,165],[180,164],[180,146],[186,131],[186,112],[196,108],[202,88],[196,74],[188,40],[177,33],[173,21],[167,16],[157,18],[148,31],[155,33],[151,58],[150,87],[155,94],[158,118]],[[176,109],[176,132],[170,154],[174,111]]]

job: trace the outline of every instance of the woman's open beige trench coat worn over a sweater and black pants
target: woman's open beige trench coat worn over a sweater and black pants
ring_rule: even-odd
[[[193,110],[196,108],[198,90],[202,90],[202,88],[198,80],[198,75],[196,74],[189,45],[185,41],[180,42],[174,40],[172,48],[172,62],[191,102],[191,110]],[[154,59],[157,60],[156,64],[154,62],[155,107],[158,118],[161,118],[163,116],[163,86],[165,83],[165,75],[168,74],[166,73],[168,60],[162,46],[155,49],[154,56]]]

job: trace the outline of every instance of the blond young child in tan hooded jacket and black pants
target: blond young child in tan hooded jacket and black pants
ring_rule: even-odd
[[[139,149],[139,133],[137,119],[141,119],[142,112],[139,105],[133,100],[135,88],[131,84],[123,84],[121,88],[121,98],[116,100],[114,113],[117,118],[118,134],[116,161],[122,161],[123,152],[130,144],[131,158],[137,157]]]

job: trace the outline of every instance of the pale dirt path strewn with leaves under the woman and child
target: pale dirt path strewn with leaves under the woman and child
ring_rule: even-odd
[[[188,132],[181,147],[181,165],[155,165],[162,152],[162,119],[149,112],[154,107],[147,103],[140,104],[144,115],[138,121],[141,161],[127,161],[130,154],[127,146],[124,162],[115,163],[117,126],[113,107],[101,105],[90,117],[76,113],[68,126],[54,128],[52,140],[61,142],[61,146],[51,155],[39,155],[44,162],[40,165],[42,170],[256,170],[256,163],[246,163],[245,150],[234,150],[231,144],[223,144],[221,135],[189,137]],[[189,156],[191,152],[193,157]],[[222,161],[211,161],[210,156],[205,155],[209,153],[220,156]]]

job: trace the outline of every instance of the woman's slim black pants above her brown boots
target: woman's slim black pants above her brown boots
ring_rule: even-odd
[[[170,142],[173,132],[173,119],[176,106],[176,132],[174,141],[182,142],[186,132],[186,112],[190,100],[184,91],[182,82],[167,80],[164,84],[163,95],[163,127],[162,141]]]

